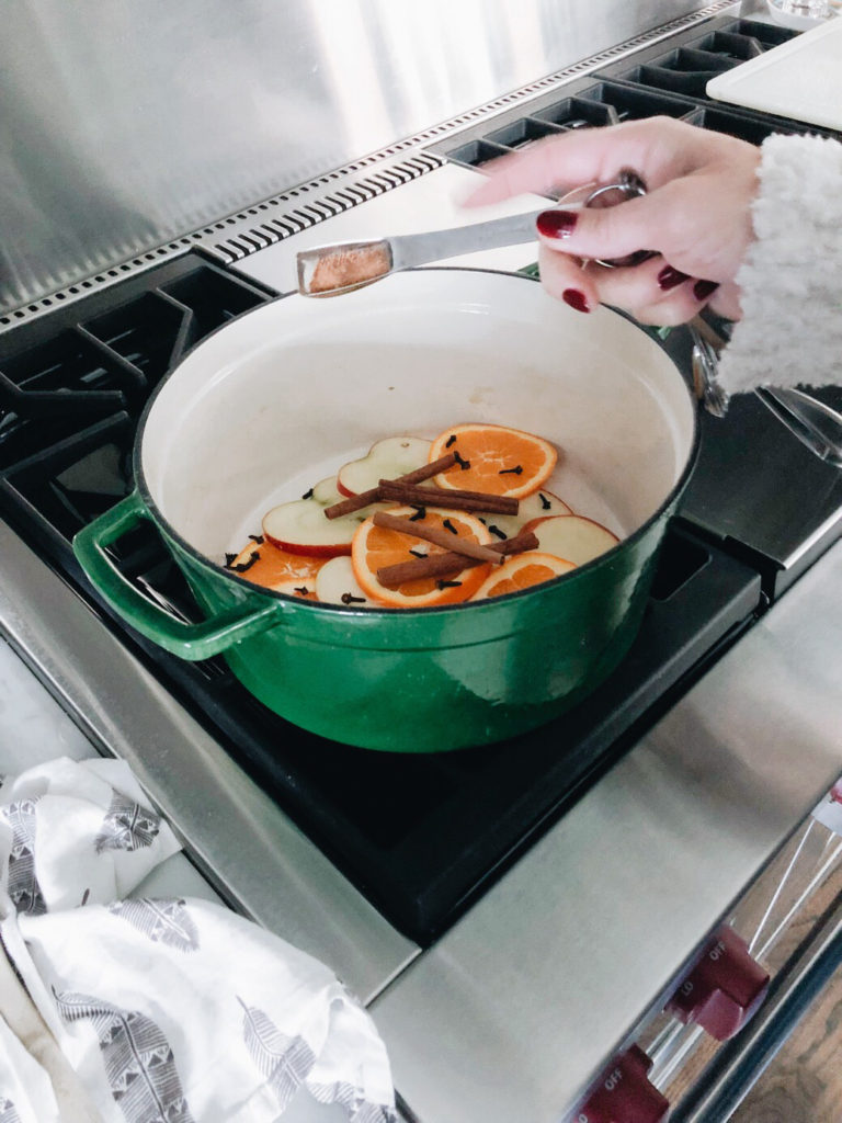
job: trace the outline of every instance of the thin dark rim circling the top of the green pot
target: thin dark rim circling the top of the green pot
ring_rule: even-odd
[[[420,272],[424,272],[424,273],[432,273],[432,272],[445,272],[445,273],[454,273],[454,272],[459,272],[459,273],[491,273],[491,274],[500,275],[500,276],[516,277],[518,280],[522,280],[522,281],[525,281],[525,282],[532,282],[533,284],[540,284],[541,283],[540,279],[537,277],[537,276],[531,276],[528,273],[518,273],[518,272],[514,272],[514,271],[511,271],[511,270],[465,268],[465,267],[455,266],[455,265],[438,265],[438,266],[422,266],[422,267],[419,267],[419,268],[404,270],[402,272],[406,272],[406,273],[420,273]],[[268,308],[271,304],[275,304],[278,301],[286,300],[287,296],[293,296],[293,295],[295,295],[294,292],[280,293],[277,296],[275,296],[274,299],[267,301],[265,304],[258,304],[257,308],[249,309],[247,312],[244,312],[242,314],[244,316],[248,316],[249,312],[259,311],[259,309],[262,309],[262,308]],[[637,320],[633,319],[633,317],[631,317],[629,313],[624,312],[622,309],[613,308],[613,307],[610,307],[610,305],[605,305],[605,308],[606,308],[607,311],[613,312],[615,316],[619,316],[622,319],[628,320],[633,327],[638,328],[640,331],[643,331],[646,335],[649,335],[648,332],[646,332],[646,330],[644,330],[644,328],[643,328],[642,325],[638,323]],[[240,318],[238,317],[237,319],[240,319]],[[518,590],[516,592],[513,592],[513,593],[503,593],[502,595],[495,596],[492,600],[464,601],[464,602],[458,602],[456,604],[429,605],[429,606],[425,606],[425,608],[424,606],[419,606],[419,608],[387,608],[386,605],[376,605],[376,606],[368,606],[368,605],[366,605],[364,608],[356,608],[355,605],[350,605],[350,604],[348,604],[348,605],[346,605],[346,604],[323,604],[323,603],[321,603],[319,601],[306,601],[306,600],[304,600],[303,597],[300,597],[300,596],[290,596],[289,593],[280,593],[280,592],[277,592],[274,588],[267,588],[264,585],[257,585],[254,582],[249,582],[248,578],[244,578],[244,577],[239,576],[238,574],[234,573],[232,570],[227,569],[223,565],[220,565],[218,562],[213,562],[211,558],[209,558],[207,554],[202,554],[200,550],[198,550],[191,542],[189,542],[186,540],[186,538],[184,538],[172,526],[172,523],[165,518],[165,515],[163,514],[163,512],[158,509],[155,500],[152,496],[149,487],[148,487],[148,485],[146,483],[146,476],[144,474],[143,457],[141,457],[141,448],[143,448],[144,433],[146,431],[146,424],[147,424],[147,421],[149,419],[149,414],[150,414],[150,412],[152,412],[152,410],[153,410],[153,408],[155,405],[155,402],[156,402],[156,400],[158,398],[158,394],[162,393],[164,386],[170,382],[170,380],[175,374],[177,374],[179,369],[181,368],[182,364],[187,358],[187,356],[192,355],[193,351],[195,351],[198,348],[200,348],[209,339],[212,339],[213,336],[216,336],[218,332],[225,331],[226,328],[228,328],[232,322],[236,322],[236,320],[234,320],[234,321],[229,320],[226,323],[220,325],[218,328],[214,328],[213,331],[210,331],[207,336],[203,336],[189,350],[184,351],[184,354],[181,356],[181,358],[179,359],[179,362],[176,363],[176,365],[174,367],[172,367],[170,371],[167,371],[167,373],[158,382],[157,386],[155,387],[155,390],[150,394],[148,401],[146,402],[146,405],[144,407],[144,411],[140,414],[140,420],[138,422],[137,432],[135,435],[135,445],[134,445],[134,449],[132,449],[132,471],[134,471],[134,476],[135,476],[135,483],[136,483],[136,487],[137,487],[138,494],[143,499],[144,505],[146,506],[147,511],[153,515],[155,523],[166,532],[166,536],[168,538],[171,538],[173,541],[175,541],[177,544],[177,546],[179,546],[180,549],[182,549],[185,554],[189,554],[193,558],[194,562],[198,562],[200,565],[202,565],[207,569],[210,569],[211,573],[213,573],[214,575],[221,576],[226,581],[231,582],[240,591],[244,591],[244,581],[245,581],[245,584],[247,586],[247,588],[245,590],[246,592],[255,593],[255,594],[258,594],[258,595],[264,595],[264,596],[271,597],[272,600],[280,601],[281,603],[287,603],[290,605],[294,605],[294,608],[296,610],[308,611],[308,612],[315,611],[315,612],[321,612],[321,613],[336,613],[337,615],[339,615],[342,619],[348,619],[348,618],[354,618],[354,617],[364,617],[366,620],[369,620],[369,619],[375,619],[378,615],[387,615],[387,617],[397,615],[397,617],[400,617],[402,619],[403,618],[409,618],[409,617],[418,617],[418,615],[429,617],[432,613],[441,614],[441,613],[448,613],[448,612],[455,612],[455,611],[461,611],[461,612],[464,612],[465,610],[476,611],[476,610],[479,610],[479,609],[485,609],[487,611],[489,609],[489,606],[493,606],[493,605],[496,605],[496,604],[501,604],[501,603],[506,603],[507,604],[507,603],[510,603],[510,602],[512,602],[512,601],[514,601],[515,599],[519,599],[519,597],[536,595],[536,594],[540,593],[541,591],[543,591],[546,588],[549,588],[549,587],[558,585],[559,582],[562,582],[562,581],[566,581],[568,584],[570,584],[573,581],[575,581],[582,574],[593,573],[597,568],[600,568],[601,566],[608,564],[613,558],[615,558],[617,556],[617,554],[620,553],[620,550],[623,549],[623,547],[625,547],[629,544],[635,542],[639,539],[641,539],[659,520],[661,520],[663,518],[665,513],[667,512],[667,510],[671,506],[671,504],[675,502],[675,500],[684,491],[684,489],[687,485],[687,482],[688,482],[688,480],[690,477],[690,474],[692,474],[693,469],[696,466],[696,460],[698,459],[698,448],[699,448],[699,441],[701,441],[701,427],[699,427],[699,421],[698,421],[697,402],[694,399],[693,391],[692,391],[690,386],[688,385],[687,380],[685,377],[683,377],[680,369],[675,364],[675,360],[672,360],[674,366],[676,367],[676,375],[681,380],[681,383],[685,386],[685,390],[687,392],[687,396],[688,396],[688,399],[690,401],[690,405],[693,408],[693,440],[690,442],[690,448],[689,448],[689,451],[687,454],[687,460],[685,463],[685,466],[684,466],[684,469],[681,471],[680,476],[678,477],[678,480],[676,481],[676,483],[672,485],[672,487],[670,489],[670,491],[667,493],[667,495],[665,496],[663,501],[660,503],[660,505],[658,506],[658,509],[656,511],[653,511],[652,514],[643,523],[641,523],[640,527],[637,528],[637,530],[632,531],[632,533],[629,535],[626,538],[621,539],[621,541],[619,541],[615,546],[612,546],[611,549],[606,550],[604,554],[601,554],[598,557],[593,558],[591,562],[586,562],[584,565],[576,566],[576,568],[571,569],[569,573],[561,574],[558,577],[552,577],[550,581],[542,582],[540,585],[534,585],[534,586],[531,586],[529,588]],[[649,335],[649,338],[651,339],[652,344],[655,344],[657,347],[661,347],[661,344],[660,344],[660,341],[657,338],[655,338],[651,335]]]

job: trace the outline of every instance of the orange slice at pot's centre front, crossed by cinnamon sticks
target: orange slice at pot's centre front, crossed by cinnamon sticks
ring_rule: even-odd
[[[428,506],[423,524],[434,530],[445,530],[447,520],[460,538],[487,546],[492,540],[488,529],[473,514],[464,511],[446,511],[442,508]],[[399,519],[410,519],[418,514],[413,506],[397,506],[388,512]],[[419,520],[421,521],[421,520]],[[488,565],[466,567],[459,573],[442,581],[437,577],[422,577],[419,581],[406,581],[396,588],[387,588],[377,581],[377,570],[400,562],[411,562],[415,550],[424,554],[442,554],[441,546],[428,542],[413,535],[401,533],[400,530],[388,530],[376,527],[374,517],[366,519],[354,536],[351,545],[351,564],[354,576],[363,592],[378,604],[393,609],[420,609],[438,604],[457,604],[467,601],[482,585],[488,573]]]

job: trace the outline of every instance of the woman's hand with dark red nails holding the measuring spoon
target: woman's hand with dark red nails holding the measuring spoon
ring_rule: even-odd
[[[705,304],[740,317],[734,277],[753,239],[751,202],[760,149],[668,117],[586,129],[486,165],[466,206],[523,192],[561,197],[586,183],[635,172],[647,194],[617,207],[548,210],[538,220],[541,281],[579,311],[628,309],[643,323],[690,320]],[[655,255],[606,268],[595,259]],[[583,266],[583,261],[587,264]]]

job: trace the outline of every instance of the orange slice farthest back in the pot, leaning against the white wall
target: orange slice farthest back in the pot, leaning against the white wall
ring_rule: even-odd
[[[552,475],[558,453],[543,437],[501,424],[457,424],[433,440],[430,463],[447,453],[461,462],[436,476],[439,487],[489,492],[520,499],[537,491]]]

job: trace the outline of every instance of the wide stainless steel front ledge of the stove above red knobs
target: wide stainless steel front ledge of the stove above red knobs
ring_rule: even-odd
[[[842,770],[842,544],[377,999],[424,1123],[557,1121]]]

